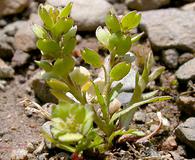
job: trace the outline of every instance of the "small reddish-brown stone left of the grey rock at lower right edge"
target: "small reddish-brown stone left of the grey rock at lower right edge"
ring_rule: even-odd
[[[177,142],[175,141],[175,137],[168,137],[165,142],[162,144],[162,149],[167,151],[172,151],[177,148]]]

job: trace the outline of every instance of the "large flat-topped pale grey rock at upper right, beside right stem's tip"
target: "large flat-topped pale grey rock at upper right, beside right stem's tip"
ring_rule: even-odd
[[[142,13],[141,29],[154,50],[195,51],[195,12],[161,9]]]

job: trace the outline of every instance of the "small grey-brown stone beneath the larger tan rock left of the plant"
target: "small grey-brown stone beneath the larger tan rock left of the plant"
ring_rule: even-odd
[[[21,67],[28,62],[30,55],[23,51],[17,50],[12,57],[12,66],[13,67]]]

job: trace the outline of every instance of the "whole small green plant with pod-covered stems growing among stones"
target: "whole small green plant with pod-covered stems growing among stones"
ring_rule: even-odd
[[[36,63],[45,71],[43,78],[59,101],[52,110],[52,135],[44,132],[45,137],[57,147],[82,153],[95,148],[104,151],[112,147],[116,137],[124,134],[143,136],[142,132],[129,128],[129,123],[139,106],[170,99],[168,96],[155,97],[157,91],[142,94],[164,68],[150,72],[154,63],[150,53],[143,73],[136,74],[133,97],[124,108],[117,100],[123,84],[112,85],[130,72],[134,57],[128,52],[142,36],[132,35],[131,30],[139,25],[141,15],[133,11],[117,18],[110,12],[105,19],[106,27],[97,28],[96,37],[110,52],[110,59],[106,68],[97,52],[89,48],[81,52],[86,63],[104,71],[104,79],[94,80],[87,68],[75,67],[72,51],[76,45],[77,27],[69,17],[71,8],[72,3],[64,9],[40,5],[39,16],[44,25],[33,27],[38,37],[37,47],[43,56]]]

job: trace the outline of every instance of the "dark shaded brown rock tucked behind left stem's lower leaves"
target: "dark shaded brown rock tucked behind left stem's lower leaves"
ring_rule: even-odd
[[[43,103],[47,102],[53,102],[56,103],[57,99],[50,93],[50,88],[41,78],[41,73],[37,73],[33,78],[32,78],[32,89],[35,93],[35,96],[42,101]]]

